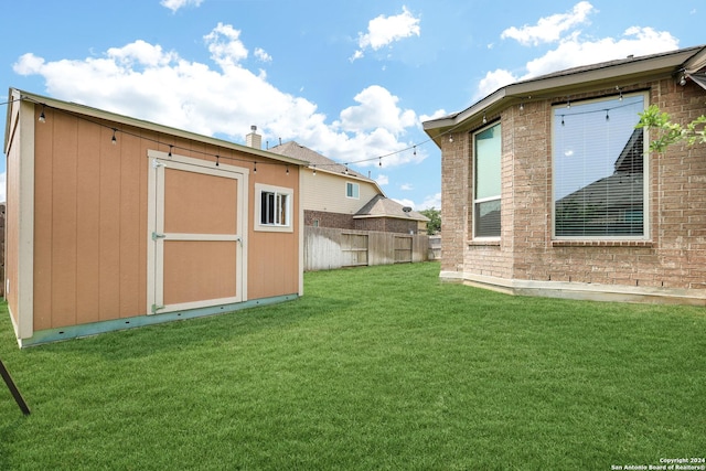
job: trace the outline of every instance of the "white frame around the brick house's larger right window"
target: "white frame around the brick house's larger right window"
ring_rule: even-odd
[[[643,98],[643,109],[645,110],[649,106],[650,106],[650,95],[648,92],[638,92],[638,93],[632,93],[632,94],[623,94],[623,99],[624,98],[629,98],[629,97],[635,97],[635,96],[642,96]],[[649,131],[646,128],[643,128],[643,170],[642,170],[642,194],[643,194],[643,225],[642,225],[642,234],[637,234],[637,235],[557,235],[556,234],[556,217],[557,217],[557,211],[556,211],[556,179],[558,178],[557,175],[557,162],[556,162],[556,150],[557,150],[557,133],[556,133],[556,129],[557,129],[557,124],[556,124],[556,113],[559,111],[559,109],[567,109],[566,114],[559,114],[558,116],[561,116],[563,120],[566,120],[567,124],[569,122],[569,117],[570,117],[570,113],[569,111],[575,111],[577,106],[581,106],[581,105],[590,105],[590,104],[597,104],[597,103],[609,103],[610,100],[620,100],[619,97],[617,96],[607,96],[607,97],[600,97],[600,98],[595,98],[595,99],[589,99],[589,100],[585,100],[585,101],[580,101],[577,104],[574,104],[574,106],[571,107],[571,110],[567,109],[567,105],[566,104],[559,104],[559,105],[555,105],[552,107],[552,121],[553,121],[553,127],[552,127],[552,174],[553,174],[553,182],[552,182],[552,238],[554,240],[649,240],[651,238],[650,235],[650,152],[649,152],[649,148],[650,148],[650,136],[649,136]],[[600,116],[609,116],[610,109],[608,110],[601,110],[599,111]],[[635,124],[638,121],[638,117],[635,116]],[[565,124],[566,125],[566,124]],[[560,126],[560,125],[559,125]]]

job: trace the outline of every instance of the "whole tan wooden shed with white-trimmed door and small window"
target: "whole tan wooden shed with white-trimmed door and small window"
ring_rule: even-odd
[[[304,162],[18,89],[8,101],[21,346],[302,295]]]

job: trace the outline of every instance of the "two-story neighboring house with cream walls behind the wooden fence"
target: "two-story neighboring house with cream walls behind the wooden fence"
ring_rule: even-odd
[[[429,220],[389,200],[374,180],[295,141],[269,151],[309,163],[302,169],[304,225],[426,234]]]

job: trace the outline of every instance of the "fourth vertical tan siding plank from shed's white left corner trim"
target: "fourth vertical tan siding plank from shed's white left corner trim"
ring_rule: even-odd
[[[120,317],[120,146],[100,130],[100,320]]]

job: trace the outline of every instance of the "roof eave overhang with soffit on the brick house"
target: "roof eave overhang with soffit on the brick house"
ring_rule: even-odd
[[[705,64],[706,46],[700,45],[569,68],[504,86],[462,111],[425,121],[422,126],[425,132],[440,147],[442,136],[449,132],[468,131],[472,121],[479,117],[494,115],[523,101],[570,97],[573,94],[620,87],[623,84],[649,82],[668,76],[677,78],[680,72],[686,73],[686,76],[697,82],[695,72],[700,71]],[[689,73],[689,71],[694,72]]]

